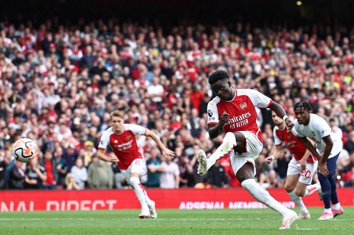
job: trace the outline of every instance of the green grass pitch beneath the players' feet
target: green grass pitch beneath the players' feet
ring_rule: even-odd
[[[309,211],[311,219],[295,220],[289,230],[278,230],[280,215],[270,209],[160,209],[157,219],[140,219],[139,210],[5,212],[0,234],[354,234],[354,207],[330,221],[317,220],[323,208]]]

